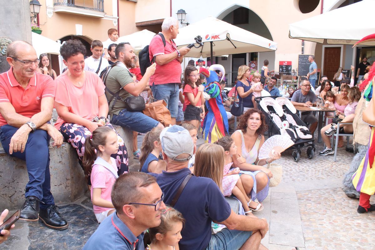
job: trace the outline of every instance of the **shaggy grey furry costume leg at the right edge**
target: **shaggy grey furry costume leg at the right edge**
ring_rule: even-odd
[[[342,190],[348,197],[359,199],[359,192],[357,192],[357,190],[353,186],[352,176],[359,168],[359,165],[361,164],[363,157],[365,157],[369,146],[361,144],[357,144],[356,146],[359,152],[353,157],[350,168],[345,174],[344,180],[342,181],[342,184],[344,184],[345,188],[343,188]]]

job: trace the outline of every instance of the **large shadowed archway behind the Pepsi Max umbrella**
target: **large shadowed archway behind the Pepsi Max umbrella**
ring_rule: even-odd
[[[221,19],[237,27],[243,28],[244,30],[250,31],[269,40],[273,40],[267,25],[263,22],[260,16],[248,7],[234,4],[223,10],[223,12],[217,16],[217,19]],[[222,64],[226,69],[228,85],[234,85],[240,65],[249,65],[249,67],[252,68],[252,71],[256,71],[263,66],[263,61],[266,59],[270,62],[269,69],[274,70],[275,51],[229,55],[228,58],[216,57],[216,63]]]

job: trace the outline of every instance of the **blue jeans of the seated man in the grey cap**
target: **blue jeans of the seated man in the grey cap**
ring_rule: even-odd
[[[238,250],[250,238],[252,231],[222,229],[211,236],[206,250]]]

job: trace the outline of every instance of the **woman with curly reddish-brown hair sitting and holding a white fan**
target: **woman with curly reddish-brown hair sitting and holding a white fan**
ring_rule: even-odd
[[[231,138],[237,146],[237,156],[233,155],[234,166],[240,168],[241,181],[246,194],[253,201],[257,198],[258,202],[263,201],[268,195],[269,178],[272,178],[272,172],[264,168],[263,165],[273,162],[280,158],[280,153],[267,159],[258,158],[259,149],[264,143],[264,132],[267,130],[267,124],[264,114],[251,108],[239,118],[239,125]],[[255,211],[262,209],[261,203],[257,205]]]

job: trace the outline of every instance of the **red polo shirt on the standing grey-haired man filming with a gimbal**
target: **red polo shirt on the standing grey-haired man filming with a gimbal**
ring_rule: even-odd
[[[175,53],[177,55],[177,47],[172,41],[165,40],[165,47],[162,37],[159,35],[151,39],[148,51],[150,53],[150,61],[156,55],[164,55]],[[156,64],[155,73],[150,77],[150,85],[153,83],[167,84],[167,83],[180,83],[181,82],[181,63],[176,59],[164,65]]]

